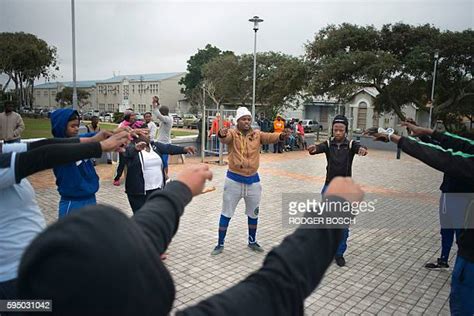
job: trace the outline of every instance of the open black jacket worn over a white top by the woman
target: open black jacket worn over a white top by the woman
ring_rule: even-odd
[[[175,146],[171,144],[163,144],[159,142],[150,142],[150,147],[161,158],[163,154],[179,155],[186,154],[184,147]],[[127,178],[125,179],[125,192],[127,194],[144,195],[145,180],[143,178],[143,155],[141,151],[135,149],[135,144],[131,143],[127,146],[123,154],[125,163],[127,165]],[[163,187],[166,183],[165,171],[162,165],[161,172],[163,174]]]

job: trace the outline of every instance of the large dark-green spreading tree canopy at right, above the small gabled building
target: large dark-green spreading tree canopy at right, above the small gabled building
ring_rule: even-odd
[[[436,80],[444,89],[436,89],[435,106],[450,108],[451,99],[468,96],[473,40],[470,30],[441,33],[430,25],[387,24],[381,30],[330,25],[306,45],[312,69],[308,90],[347,100],[360,88],[374,87],[379,92],[376,110],[393,110],[404,119],[403,105],[424,108],[430,99],[433,53],[438,50],[444,59]]]

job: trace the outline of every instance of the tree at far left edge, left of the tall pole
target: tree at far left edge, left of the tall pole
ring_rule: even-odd
[[[33,34],[0,33],[0,73],[14,82],[21,105],[31,107],[35,79],[54,78],[55,70],[59,70],[55,47]]]

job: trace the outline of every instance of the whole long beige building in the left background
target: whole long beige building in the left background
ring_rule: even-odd
[[[83,112],[98,110],[100,112],[123,112],[132,108],[138,113],[151,111],[153,96],[160,98],[160,103],[167,105],[170,112],[186,113],[188,104],[178,84],[184,72],[122,75],[106,80],[77,81],[77,88],[90,93]],[[72,87],[72,82],[54,82],[39,84],[34,87],[35,107],[54,109],[60,107],[56,102],[56,93],[64,87]]]

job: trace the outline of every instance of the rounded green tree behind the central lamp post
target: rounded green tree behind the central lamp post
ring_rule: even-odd
[[[204,66],[203,74],[206,91],[216,106],[251,104],[253,55],[216,57]],[[295,104],[305,82],[301,59],[275,52],[257,55],[255,102],[269,115]]]

